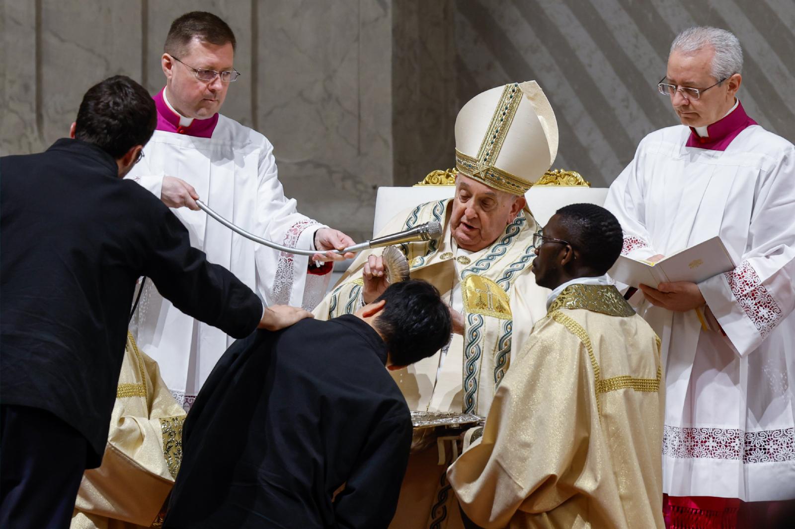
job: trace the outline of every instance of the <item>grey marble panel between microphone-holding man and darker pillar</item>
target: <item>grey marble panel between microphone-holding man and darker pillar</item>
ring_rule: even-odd
[[[390,28],[388,3],[258,6],[257,118],[285,193],[355,239],[392,182]]]

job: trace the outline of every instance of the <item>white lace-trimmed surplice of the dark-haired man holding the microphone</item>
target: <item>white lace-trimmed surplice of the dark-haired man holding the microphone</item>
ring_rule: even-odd
[[[244,230],[293,248],[314,249],[314,234],[323,225],[299,214],[296,201],[285,197],[273,145],[262,134],[219,115],[212,137],[156,130],[144,153],[127,178],[158,198],[163,176],[176,176],[195,187],[208,207]],[[307,275],[308,257],[258,245],[204,211],[172,211],[188,228],[191,244],[207,253],[209,261],[228,268],[266,305],[312,310],[323,299],[331,274]],[[186,409],[234,341],[184,315],[151,282],[131,325],[138,346],[160,364],[166,384]]]

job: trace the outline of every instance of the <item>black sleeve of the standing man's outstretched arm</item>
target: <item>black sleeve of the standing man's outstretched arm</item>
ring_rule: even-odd
[[[185,314],[218,327],[233,338],[245,338],[262,319],[262,302],[232,272],[207,261],[191,246],[188,230],[167,207],[149,237],[145,275],[158,292]],[[165,211],[164,211],[165,210]]]

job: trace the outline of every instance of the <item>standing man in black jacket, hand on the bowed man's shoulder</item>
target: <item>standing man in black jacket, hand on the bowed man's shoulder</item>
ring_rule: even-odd
[[[72,139],[0,158],[0,527],[68,527],[83,470],[102,461],[139,276],[235,338],[308,315],[263,311],[121,179],[156,119],[144,88],[116,76],[87,91]]]

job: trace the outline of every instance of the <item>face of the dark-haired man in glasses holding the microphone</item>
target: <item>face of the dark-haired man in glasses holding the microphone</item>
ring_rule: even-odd
[[[223,83],[220,75],[211,81],[197,79],[196,73],[186,64],[196,69],[231,71],[235,59],[232,44],[227,42],[219,46],[194,39],[182,54],[176,58],[184,64],[173,60],[168,53],[164,53],[161,60],[169,102],[186,118],[211,118],[227,97],[229,83]]]

